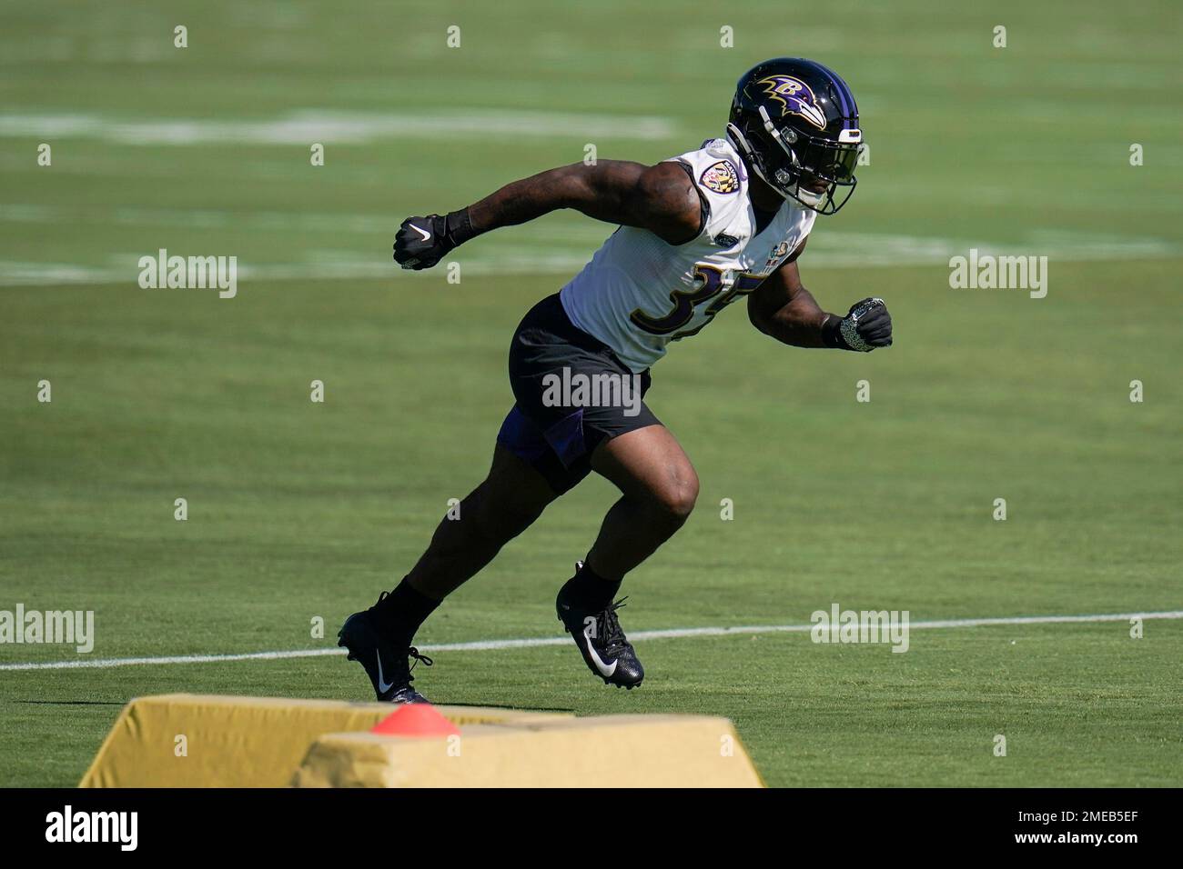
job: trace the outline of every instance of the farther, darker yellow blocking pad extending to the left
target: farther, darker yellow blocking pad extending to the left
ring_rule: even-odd
[[[285,787],[325,733],[368,731],[392,703],[161,694],[123,707],[80,787]],[[458,727],[565,713],[437,706]],[[179,737],[183,737],[185,755]]]

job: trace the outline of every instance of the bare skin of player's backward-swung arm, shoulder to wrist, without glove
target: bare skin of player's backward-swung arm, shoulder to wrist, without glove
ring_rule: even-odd
[[[515,181],[468,206],[472,228],[487,232],[524,223],[560,208],[649,229],[671,245],[702,231],[698,192],[677,163],[641,166],[601,160],[575,163]]]

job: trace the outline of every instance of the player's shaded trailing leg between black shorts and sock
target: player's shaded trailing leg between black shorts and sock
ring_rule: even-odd
[[[445,518],[407,582],[442,601],[525,531],[558,495],[545,479],[500,443],[489,476],[460,501],[460,518]]]

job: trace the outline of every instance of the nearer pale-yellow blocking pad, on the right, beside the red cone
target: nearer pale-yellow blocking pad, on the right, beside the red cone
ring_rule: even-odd
[[[461,727],[459,737],[330,733],[299,787],[763,787],[731,722],[602,715]]]

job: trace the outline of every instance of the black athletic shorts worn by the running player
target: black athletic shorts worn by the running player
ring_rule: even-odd
[[[575,328],[558,294],[522,319],[510,344],[517,402],[497,442],[536,468],[562,494],[592,471],[601,442],[661,424],[641,398],[648,370],[634,375],[616,355]]]

